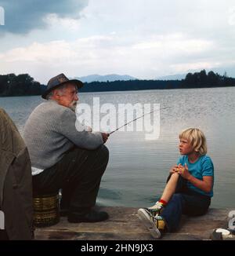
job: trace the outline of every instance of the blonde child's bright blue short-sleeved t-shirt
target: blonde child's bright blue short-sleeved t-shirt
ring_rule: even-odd
[[[211,161],[211,158],[208,155],[201,155],[195,163],[190,163],[188,156],[183,155],[179,158],[177,165],[181,163],[183,166],[186,164],[189,168],[190,174],[194,177],[197,177],[199,180],[203,180],[204,176],[212,176],[213,177],[213,185],[214,185],[214,165]],[[190,181],[187,181],[187,187],[192,189],[195,192],[201,193],[206,196],[213,196],[213,185],[211,188],[211,192],[204,192],[200,188],[196,188]]]

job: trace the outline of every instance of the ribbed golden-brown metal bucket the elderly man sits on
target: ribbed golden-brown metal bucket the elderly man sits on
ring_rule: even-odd
[[[59,193],[34,196],[34,226],[49,227],[59,221]]]

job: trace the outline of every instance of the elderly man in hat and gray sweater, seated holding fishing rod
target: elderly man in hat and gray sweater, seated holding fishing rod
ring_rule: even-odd
[[[50,79],[42,94],[47,101],[34,109],[24,127],[34,192],[62,188],[60,209],[74,223],[108,218],[106,212],[92,207],[108,163],[109,152],[103,144],[109,134],[93,133],[81,124],[76,130],[74,110],[82,86],[81,81],[63,74]]]

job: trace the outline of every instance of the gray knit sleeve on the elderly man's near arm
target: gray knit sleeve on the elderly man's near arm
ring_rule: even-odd
[[[90,132],[87,126],[78,123],[76,115],[67,108],[60,119],[60,133],[79,148],[93,150],[103,144],[103,137],[100,132]]]

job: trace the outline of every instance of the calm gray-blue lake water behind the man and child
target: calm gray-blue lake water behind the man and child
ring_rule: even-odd
[[[146,207],[164,188],[168,170],[179,158],[178,134],[190,126],[204,131],[208,155],[215,165],[212,207],[235,207],[235,88],[148,90],[80,93],[82,103],[161,104],[160,137],[147,141],[143,132],[116,132],[110,136],[110,162],[99,190],[98,203]],[[0,98],[0,107],[22,132],[41,97]]]

